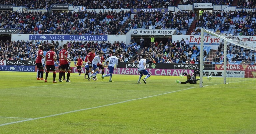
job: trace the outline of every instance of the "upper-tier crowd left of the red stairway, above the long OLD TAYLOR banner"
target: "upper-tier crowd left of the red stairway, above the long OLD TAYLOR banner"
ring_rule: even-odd
[[[129,19],[131,11],[79,12],[10,12],[0,14],[1,28],[20,29],[20,34],[118,34],[124,35],[130,29],[188,30],[189,19],[195,17],[192,11],[177,13],[160,11],[138,12]],[[84,19],[86,18],[86,19]],[[159,22],[159,23],[158,23]],[[160,23],[161,22],[161,23]],[[154,26],[154,27],[152,27]]]

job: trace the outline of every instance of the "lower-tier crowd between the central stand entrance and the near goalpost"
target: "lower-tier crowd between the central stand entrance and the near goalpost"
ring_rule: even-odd
[[[197,55],[199,48],[196,45],[188,46],[186,41],[188,42],[187,39],[174,41],[171,37],[166,43],[155,41],[151,43],[150,47],[145,47],[141,54],[134,56],[134,61],[138,62],[141,55],[146,54],[146,60],[149,63],[200,63],[200,55]]]

